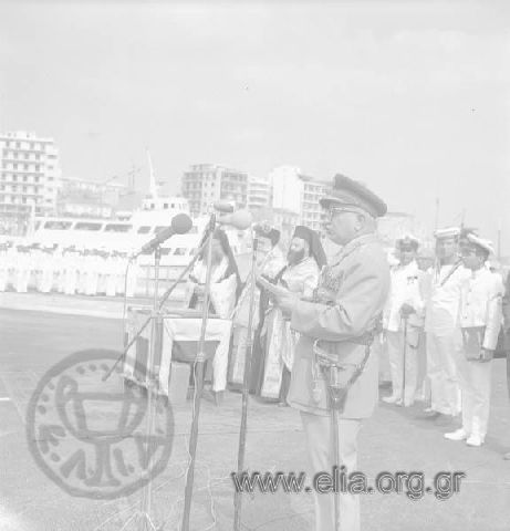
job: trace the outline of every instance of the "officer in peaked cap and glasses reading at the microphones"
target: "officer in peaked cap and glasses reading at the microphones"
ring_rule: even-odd
[[[323,268],[313,301],[288,292],[278,294],[277,302],[300,333],[288,403],[301,412],[312,469],[331,471],[333,466],[344,466],[348,475],[357,467],[362,421],[372,415],[378,398],[378,361],[371,344],[389,291],[389,267],[375,231],[376,218],[386,214],[386,205],[343,175],[335,176],[333,190],[321,205],[330,212],[327,237],[343,248]],[[337,423],[332,421],[335,416],[329,398],[333,387],[327,375],[333,372],[320,363],[324,352],[333,363],[356,367],[343,388]],[[357,531],[358,497],[341,493],[336,500],[340,511],[334,493],[314,492],[316,531]]]

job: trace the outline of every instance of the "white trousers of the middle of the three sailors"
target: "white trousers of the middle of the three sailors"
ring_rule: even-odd
[[[427,376],[430,382],[430,408],[444,415],[460,413],[460,386],[457,363],[462,348],[460,330],[427,332]]]

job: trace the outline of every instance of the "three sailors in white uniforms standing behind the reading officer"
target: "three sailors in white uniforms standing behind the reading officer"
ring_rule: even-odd
[[[427,271],[415,260],[418,241],[407,237],[398,242],[400,263],[392,271],[384,315],[393,393],[383,400],[408,406],[429,394],[429,418],[462,414],[462,427],[445,437],[480,446],[504,288],[501,275],[486,264],[493,252],[488,240],[472,232],[461,237],[457,228],[435,236],[438,264]]]

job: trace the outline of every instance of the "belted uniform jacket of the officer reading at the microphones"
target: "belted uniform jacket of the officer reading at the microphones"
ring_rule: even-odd
[[[389,290],[389,267],[375,235],[347,243],[332,266],[323,268],[314,301],[299,302],[291,326],[300,332],[288,403],[303,412],[329,415],[327,387],[313,355],[313,343],[334,352],[345,363],[361,363],[360,341],[378,321]],[[319,392],[318,392],[319,391]],[[372,352],[364,372],[351,387],[342,418],[372,415],[377,402],[378,362]]]

